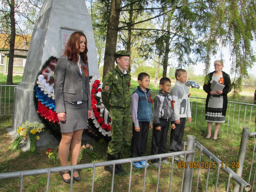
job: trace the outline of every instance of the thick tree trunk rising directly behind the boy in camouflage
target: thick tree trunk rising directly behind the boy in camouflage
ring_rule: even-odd
[[[116,52],[120,6],[121,0],[111,1],[104,55],[103,79],[105,75],[115,67],[113,55]]]

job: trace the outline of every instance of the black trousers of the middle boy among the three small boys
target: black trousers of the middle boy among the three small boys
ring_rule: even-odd
[[[166,121],[160,120],[161,131],[157,131],[155,125],[153,125],[152,143],[151,143],[151,155],[166,153],[167,135],[170,125],[170,119]],[[165,158],[161,158],[163,161]],[[151,163],[158,163],[159,159],[152,159]]]

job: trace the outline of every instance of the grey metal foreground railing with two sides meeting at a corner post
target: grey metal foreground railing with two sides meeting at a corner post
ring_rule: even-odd
[[[200,150],[200,155],[199,155],[199,161],[195,161],[195,156],[196,150]],[[209,161],[201,162],[201,157],[202,155],[206,155],[209,157]],[[174,156],[178,155],[185,155],[185,160],[182,162],[174,162]],[[36,170],[28,170],[28,171],[19,171],[19,172],[7,172],[7,173],[0,173],[0,179],[6,179],[6,178],[14,178],[14,177],[19,177],[20,178],[20,191],[23,191],[23,184],[24,184],[24,177],[26,176],[31,176],[31,175],[41,175],[41,174],[47,174],[47,183],[45,186],[45,191],[48,191],[50,188],[50,177],[51,173],[54,172],[62,172],[62,171],[67,171],[70,170],[71,172],[71,184],[70,184],[70,191],[72,191],[73,188],[73,170],[81,170],[81,169],[87,169],[87,168],[93,168],[93,172],[91,173],[90,177],[92,177],[92,184],[91,184],[91,191],[94,191],[94,182],[95,178],[99,177],[98,175],[95,175],[96,168],[102,167],[105,165],[115,165],[115,164],[130,164],[130,174],[129,178],[125,177],[127,180],[127,183],[129,183],[128,191],[131,191],[131,188],[134,187],[134,183],[132,183],[132,176],[133,176],[133,166],[132,162],[138,162],[141,160],[146,160],[146,163],[151,160],[151,159],[161,159],[162,157],[171,157],[171,171],[170,171],[170,180],[169,180],[169,192],[170,191],[201,191],[198,190],[198,185],[199,182],[202,184],[202,181],[204,182],[205,186],[205,191],[207,191],[208,188],[208,181],[210,177],[210,173],[215,172],[216,174],[211,174],[211,179],[214,177],[216,180],[216,185],[215,185],[215,191],[218,191],[217,189],[221,188],[221,191],[224,190],[229,191],[229,188],[232,187],[233,184],[231,184],[231,181],[235,181],[239,186],[241,187],[240,191],[249,191],[251,189],[251,185],[247,183],[243,178],[241,178],[239,175],[237,175],[234,171],[232,171],[229,167],[226,167],[225,165],[223,166],[223,162],[214,156],[210,151],[208,151],[204,146],[202,146],[199,142],[195,141],[195,137],[192,135],[187,136],[187,141],[186,141],[186,149],[184,151],[180,152],[173,152],[173,153],[165,153],[165,154],[160,154],[160,155],[151,155],[151,156],[142,156],[142,157],[135,157],[135,158],[127,158],[127,159],[119,159],[119,160],[114,160],[114,161],[105,161],[105,162],[94,162],[94,163],[88,163],[88,164],[79,164],[79,165],[70,165],[70,166],[63,166],[63,167],[52,167],[52,168],[44,168],[44,169],[36,169]],[[198,157],[197,157],[198,159]],[[161,190],[159,187],[159,181],[160,181],[160,172],[163,171],[161,169],[161,161],[160,166],[158,168],[158,174],[157,174],[157,183],[155,191]],[[168,166],[168,165],[167,165]],[[177,173],[178,169],[183,169],[183,174],[182,174],[182,180],[181,182],[177,182],[175,178],[175,174]],[[196,171],[195,171],[196,170]],[[204,171],[205,174],[201,174],[200,170],[207,170],[206,172]],[[221,171],[222,170],[222,171]],[[147,175],[152,172],[152,169],[147,169],[145,167],[144,171],[144,178],[143,178],[143,187],[141,191],[145,191],[145,186],[151,185],[152,183],[147,182]],[[114,170],[115,172],[115,170]],[[221,175],[221,180],[219,180]],[[83,176],[84,177],[84,176]],[[87,177],[88,178],[88,175]],[[124,179],[125,179],[124,178]],[[196,178],[196,179],[193,179]],[[226,181],[223,182],[223,178],[226,178]],[[115,187],[115,175],[112,174],[112,180],[108,181],[111,182],[111,191],[114,191]],[[220,186],[220,182],[222,182],[222,185]],[[223,184],[224,183],[224,184]],[[178,185],[178,186],[177,186]],[[176,188],[172,190],[172,187],[175,186]],[[152,185],[150,187],[152,189]],[[136,188],[137,189],[137,188]],[[202,190],[203,191],[203,190]]]

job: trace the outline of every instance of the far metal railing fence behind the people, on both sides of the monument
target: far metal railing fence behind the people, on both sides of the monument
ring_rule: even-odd
[[[0,116],[12,115],[14,88],[17,85],[0,85]],[[130,88],[132,93],[135,88]],[[153,99],[158,92],[151,91]],[[194,126],[206,132],[207,124],[205,122],[205,100],[206,98],[190,97],[190,106],[192,112],[192,122]],[[250,132],[255,132],[255,114],[256,105],[248,103],[239,103],[228,101],[226,122],[221,124],[219,133],[226,135],[237,135],[242,133],[243,127],[248,127]]]

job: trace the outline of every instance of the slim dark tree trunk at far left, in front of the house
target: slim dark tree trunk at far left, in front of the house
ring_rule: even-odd
[[[10,51],[9,51],[9,62],[8,62],[8,75],[6,84],[12,85],[12,71],[13,71],[13,59],[14,59],[14,45],[15,45],[15,36],[16,36],[16,28],[15,28],[15,18],[14,18],[14,0],[7,1],[10,6],[10,25],[11,25],[11,38],[10,38]]]

